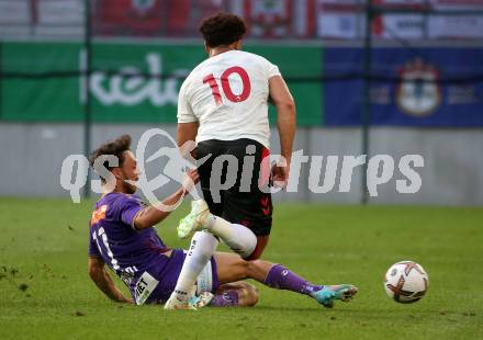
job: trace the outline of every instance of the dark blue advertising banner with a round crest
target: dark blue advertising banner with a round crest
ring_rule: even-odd
[[[483,126],[483,48],[374,48],[371,54],[370,124]],[[362,48],[325,48],[325,76],[335,79],[324,84],[325,125],[362,123],[363,61]]]

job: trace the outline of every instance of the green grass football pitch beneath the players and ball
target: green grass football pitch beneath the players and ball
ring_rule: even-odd
[[[165,311],[112,303],[90,281],[91,205],[0,199],[0,339],[483,338],[482,208],[277,204],[263,258],[312,282],[353,283],[353,302],[326,309],[256,283],[252,308]],[[188,247],[175,229],[187,211],[157,227],[167,245]],[[412,305],[382,285],[401,260],[429,274],[427,295]]]

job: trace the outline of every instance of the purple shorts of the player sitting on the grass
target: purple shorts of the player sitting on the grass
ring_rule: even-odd
[[[166,265],[160,270],[156,267],[151,267],[148,272],[159,281],[156,288],[146,299],[146,304],[164,304],[168,301],[172,291],[175,291],[178,276],[181,272],[181,268],[187,254],[181,249],[173,249],[171,257]],[[200,276],[198,276],[198,292],[215,292],[218,286],[218,276],[216,272],[216,262],[214,258],[211,258],[210,262],[203,269]]]

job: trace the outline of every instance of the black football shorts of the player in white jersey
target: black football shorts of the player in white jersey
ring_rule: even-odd
[[[210,139],[198,144],[196,159],[207,155],[198,171],[210,212],[246,226],[256,236],[269,235],[273,211],[268,192],[270,151],[252,139]]]

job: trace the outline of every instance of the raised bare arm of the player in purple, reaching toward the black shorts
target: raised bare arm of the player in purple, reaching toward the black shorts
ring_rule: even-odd
[[[173,206],[177,202],[179,202],[179,200],[183,199],[186,194],[193,189],[193,185],[196,184],[200,180],[196,170],[189,170],[186,175],[187,178],[181,188],[161,202],[164,206]],[[134,217],[134,226],[136,227],[136,229],[150,228],[168,217],[170,212],[162,209],[160,206],[160,204],[159,206],[149,205],[139,211],[136,217]]]

